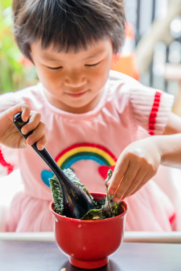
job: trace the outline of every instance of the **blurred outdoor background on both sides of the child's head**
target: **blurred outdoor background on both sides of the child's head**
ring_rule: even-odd
[[[0,94],[38,82],[13,39],[12,0],[0,0]],[[125,0],[127,30],[112,69],[175,95],[181,116],[181,0]]]

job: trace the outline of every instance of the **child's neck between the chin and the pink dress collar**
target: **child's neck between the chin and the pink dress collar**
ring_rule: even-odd
[[[63,102],[61,102],[60,100],[57,100],[57,98],[54,98],[51,95],[49,95],[49,92],[46,89],[44,89],[44,92],[49,102],[56,108],[59,108],[69,113],[82,114],[82,113],[92,111],[98,105],[103,93],[103,89],[98,93],[98,95],[91,102],[89,102],[89,104],[86,104],[85,106],[78,107],[78,108],[68,106],[67,104],[64,104]]]

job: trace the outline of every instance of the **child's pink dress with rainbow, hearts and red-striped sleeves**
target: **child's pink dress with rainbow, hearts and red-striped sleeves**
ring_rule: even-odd
[[[123,149],[136,139],[164,132],[174,97],[110,71],[100,102],[90,112],[59,110],[49,103],[41,83],[2,94],[0,112],[22,101],[41,113],[46,124],[46,148],[57,164],[62,169],[72,168],[89,191],[105,192],[107,171],[114,169]],[[25,187],[12,201],[7,231],[52,231],[48,181],[52,172],[48,166],[31,147],[9,149],[3,145],[0,163],[7,173],[20,168]],[[125,230],[172,230],[174,207],[153,180],[126,201]]]

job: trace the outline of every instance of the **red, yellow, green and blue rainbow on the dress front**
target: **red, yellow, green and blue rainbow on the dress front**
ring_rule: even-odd
[[[105,147],[93,143],[77,143],[63,150],[55,161],[61,168],[69,168],[79,160],[94,160],[108,167],[116,165],[116,157]]]

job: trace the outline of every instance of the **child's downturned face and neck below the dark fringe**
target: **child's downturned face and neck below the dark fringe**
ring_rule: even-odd
[[[45,94],[55,107],[72,113],[85,113],[98,104],[108,78],[112,43],[100,40],[87,50],[56,52],[53,46],[31,44],[31,58]]]

